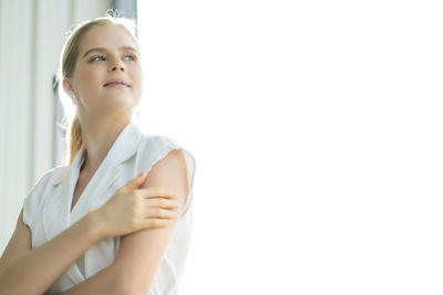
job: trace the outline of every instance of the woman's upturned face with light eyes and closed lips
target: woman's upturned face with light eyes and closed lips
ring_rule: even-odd
[[[132,114],[143,81],[134,40],[119,25],[91,28],[80,42],[74,73],[68,81],[64,86],[75,95],[82,117]]]

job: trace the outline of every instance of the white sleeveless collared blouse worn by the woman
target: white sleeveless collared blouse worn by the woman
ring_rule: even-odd
[[[177,294],[193,230],[190,202],[195,159],[189,151],[168,137],[143,134],[135,123],[130,123],[120,133],[72,212],[70,212],[72,196],[80,167],[84,161],[84,147],[79,150],[71,165],[55,167],[39,179],[23,200],[23,222],[31,229],[32,247],[50,241],[87,212],[102,207],[119,188],[142,171],[147,173],[156,161],[173,149],[181,149],[185,157],[189,194],[147,294]],[[44,294],[70,289],[111,265],[119,246],[120,236],[101,240],[71,265]]]

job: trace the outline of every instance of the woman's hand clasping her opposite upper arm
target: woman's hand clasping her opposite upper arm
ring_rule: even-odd
[[[176,196],[154,188],[138,189],[145,179],[142,172],[94,211],[103,236],[165,228],[178,215]]]

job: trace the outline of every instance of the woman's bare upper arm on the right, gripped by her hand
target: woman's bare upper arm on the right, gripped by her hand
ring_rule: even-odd
[[[169,151],[150,170],[143,188],[165,189],[177,196],[179,211],[183,209],[188,186],[186,162],[179,149]],[[122,282],[136,292],[146,294],[152,285],[159,262],[166,251],[176,222],[161,229],[142,230],[121,238],[120,249],[112,267],[117,267]]]

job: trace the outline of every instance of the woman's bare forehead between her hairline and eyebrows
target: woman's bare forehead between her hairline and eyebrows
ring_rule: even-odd
[[[102,24],[92,27],[79,44],[80,55],[93,48],[117,49],[121,46],[137,48],[131,34],[122,27]]]

